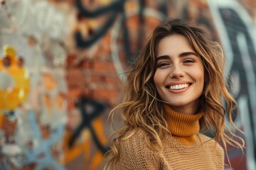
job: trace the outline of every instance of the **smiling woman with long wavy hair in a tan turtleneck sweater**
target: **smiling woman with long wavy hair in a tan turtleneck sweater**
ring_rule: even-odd
[[[220,45],[204,30],[178,19],[160,23],[112,111],[121,111],[124,125],[113,133],[105,169],[223,169],[226,145],[244,147],[225,130],[236,102],[224,66]],[[213,139],[201,130],[214,130]]]

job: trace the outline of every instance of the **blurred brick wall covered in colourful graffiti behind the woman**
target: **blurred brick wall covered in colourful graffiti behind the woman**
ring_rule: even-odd
[[[223,46],[247,148],[226,169],[256,169],[253,0],[0,0],[0,169],[102,169],[123,73],[165,18]]]

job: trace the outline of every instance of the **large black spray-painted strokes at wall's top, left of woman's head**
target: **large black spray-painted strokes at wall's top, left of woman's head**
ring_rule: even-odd
[[[102,28],[97,30],[97,32],[92,33],[92,35],[90,35],[89,38],[84,39],[84,38],[82,38],[82,34],[80,32],[76,32],[75,33],[76,45],[81,48],[87,48],[87,47],[90,47],[91,45],[93,45],[95,42],[97,42],[97,40],[102,38],[103,35],[105,35],[107,33],[107,30],[110,29],[110,26],[112,26],[114,24],[114,22],[118,18],[118,14],[120,14],[121,19],[119,20],[119,23],[123,27],[122,28],[123,29],[122,37],[124,40],[123,48],[124,48],[124,53],[125,53],[125,57],[126,57],[126,61],[127,61],[126,63],[127,64],[131,63],[134,60],[134,57],[132,57],[132,53],[136,53],[142,48],[142,41],[144,40],[142,37],[144,35],[143,26],[144,26],[144,18],[145,18],[145,12],[144,12],[145,11],[145,0],[138,1],[139,11],[137,12],[137,16],[139,16],[139,23],[138,23],[139,28],[137,30],[138,31],[138,34],[137,34],[138,35],[138,37],[137,37],[138,46],[137,46],[136,52],[132,52],[132,50],[130,49],[130,45],[129,45],[130,36],[129,36],[129,29],[127,27],[127,13],[126,13],[125,7],[124,7],[125,3],[126,3],[126,0],[118,0],[118,1],[114,1],[112,4],[110,4],[108,6],[98,8],[95,11],[89,11],[89,10],[87,10],[87,8],[82,6],[81,0],[76,0],[76,6],[78,8],[78,11],[79,11],[80,15],[84,16],[85,18],[95,18],[95,17],[102,16],[102,15],[105,15],[108,13],[111,14],[109,16],[109,18],[107,19],[107,21],[105,22],[105,24],[102,26]],[[167,13],[166,3],[167,3],[167,1],[161,1],[161,3],[159,3],[159,8],[161,8],[161,11],[165,12],[164,15],[161,16],[161,19],[163,19]],[[153,13],[151,13],[151,15],[154,15],[154,14],[156,14],[156,12],[153,11]],[[156,17],[158,17],[158,16],[159,16],[159,14],[156,15]],[[116,67],[116,69],[117,69],[117,67]]]

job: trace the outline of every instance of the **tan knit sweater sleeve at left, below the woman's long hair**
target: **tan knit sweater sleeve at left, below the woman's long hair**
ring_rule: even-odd
[[[156,170],[159,161],[156,154],[146,145],[144,135],[133,135],[119,147],[119,161],[114,164],[114,170]]]

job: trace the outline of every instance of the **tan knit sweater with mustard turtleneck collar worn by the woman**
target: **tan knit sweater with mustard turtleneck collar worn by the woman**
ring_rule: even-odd
[[[198,120],[202,114],[185,115],[165,106],[169,130],[163,140],[164,149],[154,152],[146,145],[146,132],[138,129],[129,140],[122,142],[116,170],[156,169],[223,169],[223,149],[206,135],[199,132]],[[214,152],[215,150],[215,152]]]

